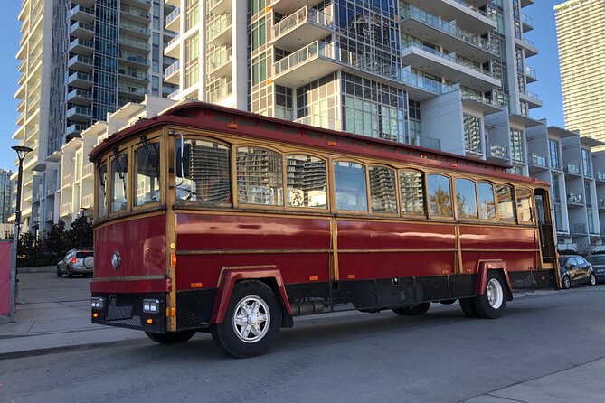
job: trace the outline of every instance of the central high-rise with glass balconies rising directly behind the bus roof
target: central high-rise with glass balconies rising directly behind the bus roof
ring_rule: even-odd
[[[528,174],[533,0],[165,0],[171,98],[440,148]]]

